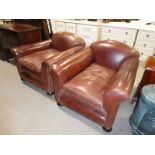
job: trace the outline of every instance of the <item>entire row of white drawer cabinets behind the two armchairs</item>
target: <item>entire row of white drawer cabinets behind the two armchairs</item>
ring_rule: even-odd
[[[89,46],[98,40],[116,40],[137,49],[141,57],[146,61],[148,56],[155,53],[155,26],[149,26],[138,22],[110,22],[77,20],[52,20],[54,32],[68,31],[77,34],[86,41]],[[144,56],[144,57],[143,57]]]

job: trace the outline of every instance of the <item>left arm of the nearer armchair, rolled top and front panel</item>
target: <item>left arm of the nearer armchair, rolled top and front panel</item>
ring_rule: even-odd
[[[51,75],[54,80],[54,90],[57,99],[59,98],[62,85],[84,70],[92,62],[93,52],[88,48],[52,65]]]

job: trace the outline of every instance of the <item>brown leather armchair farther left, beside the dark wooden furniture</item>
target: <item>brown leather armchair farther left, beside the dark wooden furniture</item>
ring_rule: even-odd
[[[82,50],[85,41],[70,32],[55,33],[52,39],[12,48],[18,72],[22,80],[30,81],[53,93],[50,65]]]

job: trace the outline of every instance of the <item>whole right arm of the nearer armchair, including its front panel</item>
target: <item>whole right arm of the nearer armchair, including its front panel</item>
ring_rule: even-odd
[[[107,126],[109,128],[114,122],[120,102],[128,100],[130,96],[136,78],[138,64],[138,57],[126,59],[104,93],[103,103],[108,113]]]

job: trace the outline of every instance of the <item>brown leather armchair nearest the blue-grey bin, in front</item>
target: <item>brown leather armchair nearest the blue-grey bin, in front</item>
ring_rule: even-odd
[[[58,105],[111,131],[119,104],[129,98],[139,53],[117,41],[99,41],[51,67]]]

